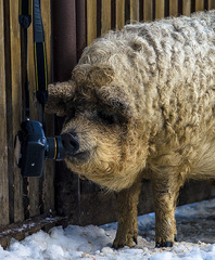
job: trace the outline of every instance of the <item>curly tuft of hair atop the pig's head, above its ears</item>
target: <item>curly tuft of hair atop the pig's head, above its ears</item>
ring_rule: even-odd
[[[106,64],[80,64],[74,68],[72,78],[78,84],[101,87],[111,83],[114,78],[114,70]]]

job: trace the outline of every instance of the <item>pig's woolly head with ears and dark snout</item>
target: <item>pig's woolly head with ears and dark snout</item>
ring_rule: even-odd
[[[101,64],[77,65],[72,80],[50,84],[47,110],[65,117],[67,167],[110,190],[130,186],[148,153],[138,102],[113,68]]]

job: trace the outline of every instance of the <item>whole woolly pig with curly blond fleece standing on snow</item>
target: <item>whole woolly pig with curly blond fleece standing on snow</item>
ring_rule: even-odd
[[[215,11],[97,39],[72,79],[50,86],[47,109],[65,116],[67,167],[118,192],[113,246],[137,242],[142,179],[152,183],[156,246],[172,246],[179,188],[215,178]]]

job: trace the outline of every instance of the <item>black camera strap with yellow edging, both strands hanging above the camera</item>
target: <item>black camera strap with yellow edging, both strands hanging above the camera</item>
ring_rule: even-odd
[[[26,94],[26,117],[29,118],[29,82],[27,77],[27,28],[31,23],[31,0],[20,0],[18,21],[24,30],[25,46],[25,94]],[[35,77],[36,77],[36,98],[42,109],[42,125],[45,120],[45,104],[48,100],[48,69],[45,44],[45,34],[38,0],[33,0],[33,26],[34,26],[34,56],[35,56]]]

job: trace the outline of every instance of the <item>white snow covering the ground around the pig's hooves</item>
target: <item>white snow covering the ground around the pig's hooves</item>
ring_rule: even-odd
[[[10,260],[215,260],[215,199],[178,207],[178,240],[172,248],[154,247],[154,213],[138,217],[138,245],[111,248],[116,223],[102,226],[55,226],[24,240],[11,240],[0,259]]]

